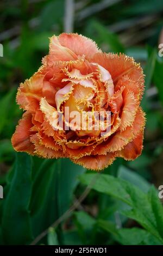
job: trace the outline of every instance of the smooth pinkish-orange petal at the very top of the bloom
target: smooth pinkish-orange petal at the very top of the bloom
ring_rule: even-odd
[[[83,35],[62,33],[59,35],[59,42],[77,56],[84,55],[87,59],[90,59],[95,53],[101,52],[95,42]]]

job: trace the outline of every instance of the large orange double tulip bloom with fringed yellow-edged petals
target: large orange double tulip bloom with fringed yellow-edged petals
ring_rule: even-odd
[[[54,35],[41,68],[18,88],[17,103],[25,112],[12,145],[95,170],[116,157],[134,160],[145,126],[143,84],[133,58],[103,53],[82,35]]]

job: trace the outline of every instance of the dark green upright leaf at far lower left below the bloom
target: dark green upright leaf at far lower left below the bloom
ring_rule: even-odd
[[[25,153],[16,154],[12,182],[4,202],[2,234],[7,245],[26,245],[32,240],[29,200],[32,191],[32,159]]]

